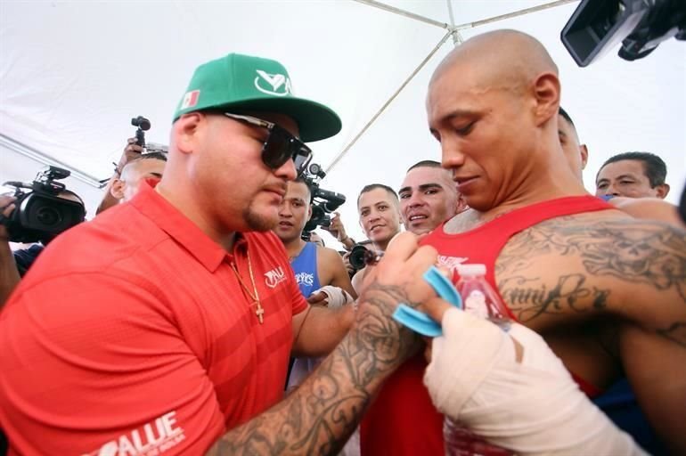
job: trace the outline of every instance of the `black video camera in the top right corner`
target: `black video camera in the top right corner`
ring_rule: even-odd
[[[686,40],[683,0],[583,0],[560,34],[580,67],[619,41],[619,57],[634,61],[670,37]]]

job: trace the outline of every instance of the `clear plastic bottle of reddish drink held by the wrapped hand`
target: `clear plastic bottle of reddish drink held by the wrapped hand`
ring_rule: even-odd
[[[486,281],[486,265],[458,265],[457,290],[465,312],[510,330],[510,317],[501,298]],[[445,417],[443,425],[446,456],[509,456],[509,450],[486,443],[458,421]]]

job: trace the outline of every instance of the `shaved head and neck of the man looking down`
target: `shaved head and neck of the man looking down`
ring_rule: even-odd
[[[427,95],[429,130],[470,208],[579,185],[560,160],[559,93],[550,54],[515,30],[470,38],[439,64]]]

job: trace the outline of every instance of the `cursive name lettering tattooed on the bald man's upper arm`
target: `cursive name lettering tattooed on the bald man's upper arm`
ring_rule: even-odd
[[[590,308],[607,307],[609,290],[589,288],[585,281],[582,274],[563,275],[548,289],[538,277],[515,276],[498,283],[498,289],[519,321],[528,322],[541,314],[561,314],[568,310],[581,313]]]

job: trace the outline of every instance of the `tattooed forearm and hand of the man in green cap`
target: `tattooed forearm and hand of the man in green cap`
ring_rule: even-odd
[[[391,314],[400,302],[433,296],[421,274],[435,261],[436,251],[417,249],[411,233],[396,237],[365,279],[357,321],[339,346],[294,393],[222,436],[208,456],[337,454],[383,380],[417,348]]]

